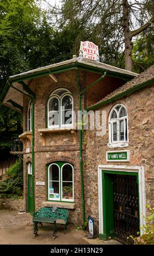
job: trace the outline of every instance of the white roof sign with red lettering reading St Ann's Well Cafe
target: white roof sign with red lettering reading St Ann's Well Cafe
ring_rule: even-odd
[[[98,46],[93,42],[85,41],[80,44],[79,57],[91,59],[99,62],[99,51]]]

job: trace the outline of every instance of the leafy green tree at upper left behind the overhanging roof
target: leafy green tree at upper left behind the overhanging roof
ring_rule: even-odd
[[[10,75],[52,63],[54,35],[34,0],[1,0],[0,93]],[[22,133],[21,114],[0,106],[0,151],[10,151],[15,133]]]

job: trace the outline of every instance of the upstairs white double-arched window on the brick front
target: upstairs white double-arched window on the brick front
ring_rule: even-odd
[[[67,89],[56,89],[48,100],[48,128],[73,125],[73,97]]]

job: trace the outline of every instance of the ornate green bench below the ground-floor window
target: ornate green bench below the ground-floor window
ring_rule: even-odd
[[[36,236],[38,233],[38,223],[42,225],[43,222],[53,223],[53,238],[56,236],[56,224],[64,224],[65,232],[67,229],[68,222],[68,210],[62,208],[52,208],[52,207],[44,207],[40,210],[36,211],[33,215],[33,223],[34,223],[34,235]]]

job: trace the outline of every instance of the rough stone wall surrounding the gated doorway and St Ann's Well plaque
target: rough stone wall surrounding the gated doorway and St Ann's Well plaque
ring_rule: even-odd
[[[86,168],[84,170],[86,216],[94,217],[98,224],[98,165],[113,164],[144,166],[146,182],[146,203],[154,206],[154,87],[147,87],[115,101],[100,111],[107,112],[107,132],[96,136],[95,131],[86,132]],[[108,148],[108,115],[114,105],[122,103],[129,117],[129,147]],[[106,162],[106,151],[130,150],[130,162]]]

